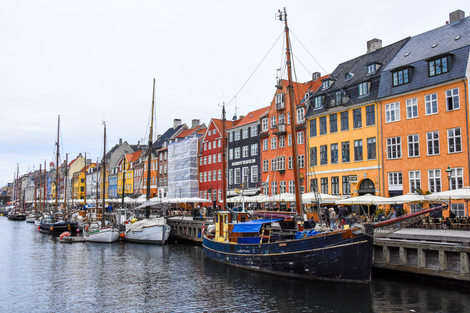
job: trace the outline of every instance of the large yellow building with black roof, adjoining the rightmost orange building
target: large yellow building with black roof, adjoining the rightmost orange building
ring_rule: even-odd
[[[372,39],[366,54],[339,64],[305,95],[310,191],[318,186],[321,193],[343,198],[384,196],[377,92],[382,70],[407,39],[384,47]]]

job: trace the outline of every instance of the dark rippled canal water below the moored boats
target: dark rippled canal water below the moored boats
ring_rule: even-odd
[[[0,290],[0,312],[470,312],[470,294],[439,283],[282,278],[219,264],[181,242],[61,244],[4,217]]]

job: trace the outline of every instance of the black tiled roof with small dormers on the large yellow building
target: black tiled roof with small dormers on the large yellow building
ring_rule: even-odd
[[[310,103],[312,103],[313,98],[323,95],[322,106],[314,109],[313,105],[309,105],[305,116],[317,115],[327,111],[331,107],[337,107],[335,103],[331,104],[330,100],[335,99],[335,92],[339,89],[345,91],[348,97],[347,102],[340,104],[340,106],[349,106],[355,103],[377,99],[381,73],[392,58],[399,52],[400,48],[406,44],[408,39],[409,37],[403,38],[376,51],[360,55],[352,60],[339,64],[328,77],[334,81],[330,84],[329,88],[323,89],[323,86],[320,86],[309,98]],[[368,74],[367,65],[370,63],[379,63],[382,65],[376,69],[374,73]],[[351,73],[353,76],[346,79],[345,75],[347,73]],[[369,92],[367,95],[359,96],[358,84],[366,81],[370,82]]]

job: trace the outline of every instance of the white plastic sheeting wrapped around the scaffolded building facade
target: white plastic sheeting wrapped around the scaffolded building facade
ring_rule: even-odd
[[[197,153],[197,138],[188,138],[168,145],[168,198],[199,196]]]

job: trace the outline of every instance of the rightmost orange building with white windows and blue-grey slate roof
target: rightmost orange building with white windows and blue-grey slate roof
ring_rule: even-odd
[[[460,35],[469,32],[467,17],[411,37],[382,71],[378,97],[385,196],[469,185],[470,38]],[[451,209],[456,215],[467,213],[462,201]]]

